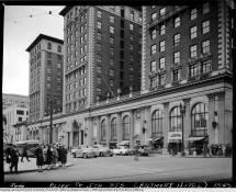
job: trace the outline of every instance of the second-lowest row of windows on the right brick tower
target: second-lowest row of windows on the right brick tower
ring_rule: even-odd
[[[165,52],[166,50],[166,41],[161,41],[159,42],[159,52]],[[191,45],[189,48],[189,56],[190,58],[196,57],[198,56],[198,45]],[[154,44],[150,46],[150,55],[154,55],[157,53],[157,45]],[[202,54],[209,54],[210,53],[210,39],[204,39],[201,43],[201,53]],[[179,58],[180,58],[180,53],[176,52],[173,54],[173,60],[176,60],[175,63],[179,63]]]

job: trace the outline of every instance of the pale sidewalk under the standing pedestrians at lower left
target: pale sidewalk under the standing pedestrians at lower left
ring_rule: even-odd
[[[24,159],[24,162],[21,162],[21,158],[19,159],[19,163],[18,163],[19,173],[37,171],[36,158],[30,158],[30,160],[31,161],[27,161],[26,159]],[[3,161],[3,163],[4,163],[4,174],[10,174],[9,163],[7,163],[5,160]],[[70,166],[74,166],[74,163],[71,162],[66,163],[66,167],[70,167]],[[52,170],[60,169],[60,168],[61,167],[57,166],[52,168]],[[45,169],[46,169],[46,166],[43,166],[43,170]]]

